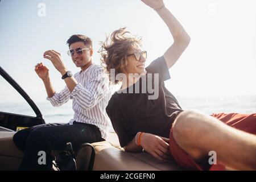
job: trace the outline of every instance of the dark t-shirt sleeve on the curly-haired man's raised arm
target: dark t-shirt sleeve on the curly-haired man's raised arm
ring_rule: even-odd
[[[158,73],[159,78],[163,81],[171,78],[164,56],[158,57],[158,59],[152,61],[146,68],[146,71],[147,73]]]

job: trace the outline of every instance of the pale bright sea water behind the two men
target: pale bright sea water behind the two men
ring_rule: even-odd
[[[176,97],[182,109],[200,110],[212,113],[256,113],[256,95],[230,97]],[[73,118],[72,101],[60,107],[53,107],[49,101],[36,102],[46,123],[68,123]],[[35,116],[26,101],[0,102],[0,111]]]

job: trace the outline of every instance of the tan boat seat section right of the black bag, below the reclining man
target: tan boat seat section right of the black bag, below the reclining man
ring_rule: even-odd
[[[96,171],[174,171],[182,170],[174,160],[161,161],[147,152],[126,152],[119,144],[117,134],[109,133],[104,142],[92,143],[96,156],[93,170]]]

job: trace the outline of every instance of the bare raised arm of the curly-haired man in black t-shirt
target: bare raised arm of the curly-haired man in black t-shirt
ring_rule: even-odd
[[[171,14],[171,12],[164,6],[163,0],[141,0],[147,6],[154,9],[159,16],[163,19],[169,28],[174,43],[164,53],[164,59],[166,60],[167,66],[170,69],[172,65],[176,63],[183,51],[187,48],[190,37],[184,28],[181,26],[179,21]]]

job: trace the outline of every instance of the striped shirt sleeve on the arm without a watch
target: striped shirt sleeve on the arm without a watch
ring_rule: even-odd
[[[52,97],[47,97],[46,100],[50,101],[53,106],[61,106],[68,102],[70,98],[70,91],[68,89],[68,86],[65,86],[63,90],[61,90],[60,93],[55,93]]]

